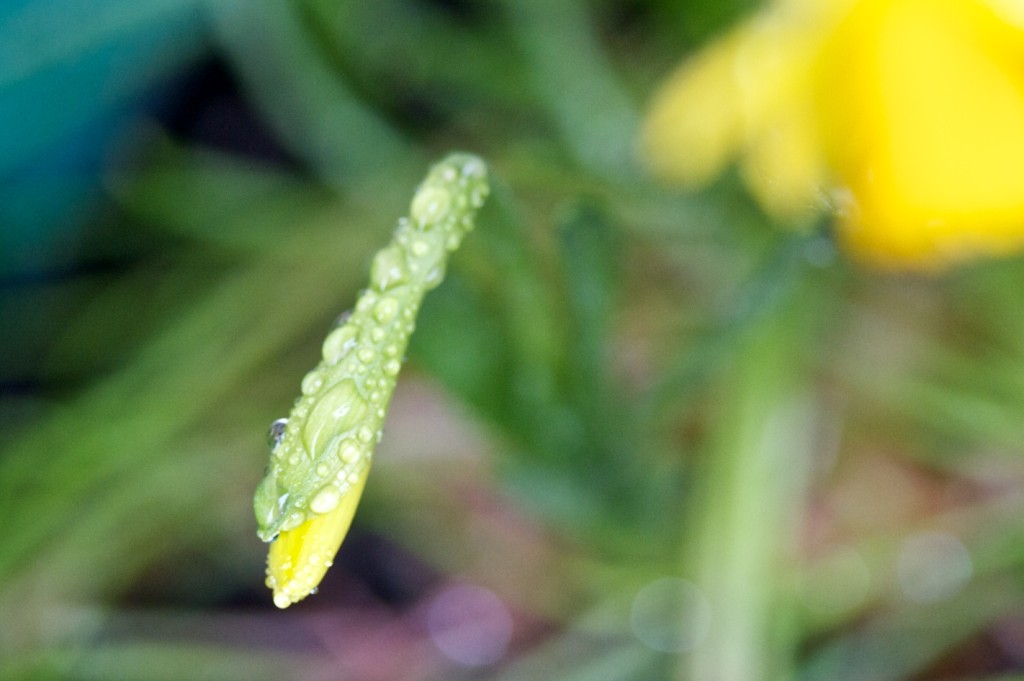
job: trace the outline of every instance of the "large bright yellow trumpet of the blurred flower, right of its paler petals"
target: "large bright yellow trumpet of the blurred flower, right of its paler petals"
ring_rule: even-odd
[[[1024,245],[1024,31],[979,0],[862,0],[822,71],[865,257],[936,266]]]

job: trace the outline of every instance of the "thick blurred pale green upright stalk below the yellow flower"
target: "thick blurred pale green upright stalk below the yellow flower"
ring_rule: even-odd
[[[772,313],[744,330],[723,377],[685,560],[713,614],[703,644],[682,658],[680,679],[793,675],[796,619],[786,576],[815,452],[807,356],[821,309],[810,278],[796,279]]]

